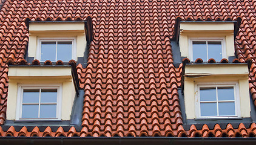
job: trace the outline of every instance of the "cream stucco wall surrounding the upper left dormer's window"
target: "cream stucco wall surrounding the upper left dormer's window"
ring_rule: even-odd
[[[72,38],[75,41],[73,59],[83,57],[86,49],[84,22],[32,22],[29,24],[29,57],[38,59],[39,39]]]

